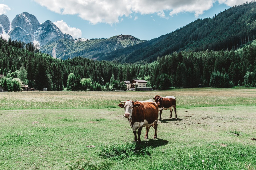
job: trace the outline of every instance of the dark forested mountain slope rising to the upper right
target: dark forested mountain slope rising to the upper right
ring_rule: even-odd
[[[93,58],[135,63],[180,51],[236,50],[256,38],[256,3],[229,8],[213,18],[197,19],[159,38]]]

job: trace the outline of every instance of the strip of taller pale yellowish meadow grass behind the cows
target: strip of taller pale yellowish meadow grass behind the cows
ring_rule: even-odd
[[[193,88],[168,91],[0,93],[0,110],[118,108],[119,100],[148,100],[155,95],[176,97],[179,108],[256,105],[256,88]]]

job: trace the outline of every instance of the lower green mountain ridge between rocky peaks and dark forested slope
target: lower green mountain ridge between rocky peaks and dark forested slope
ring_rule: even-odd
[[[139,43],[145,42],[131,35],[116,35],[111,38],[76,40],[60,39],[46,44],[40,51],[52,55],[54,58],[68,59],[76,56],[93,58],[98,53],[106,54],[117,49],[123,49]],[[97,58],[93,58],[97,59]]]

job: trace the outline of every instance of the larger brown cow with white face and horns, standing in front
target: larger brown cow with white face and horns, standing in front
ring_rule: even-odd
[[[157,138],[158,106],[155,102],[127,100],[125,102],[120,101],[118,106],[124,108],[124,117],[129,120],[129,124],[134,134],[134,141],[141,143],[142,127],[146,127],[146,135],[144,139],[148,139],[148,131],[150,127],[154,127],[154,139]],[[136,135],[137,129],[138,138]]]

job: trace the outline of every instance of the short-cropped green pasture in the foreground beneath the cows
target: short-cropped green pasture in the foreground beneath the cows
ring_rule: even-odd
[[[158,139],[150,128],[145,140],[143,128],[141,145],[121,108],[2,110],[0,169],[68,169],[78,159],[112,169],[255,169],[255,109],[179,108],[178,119],[163,111]]]

